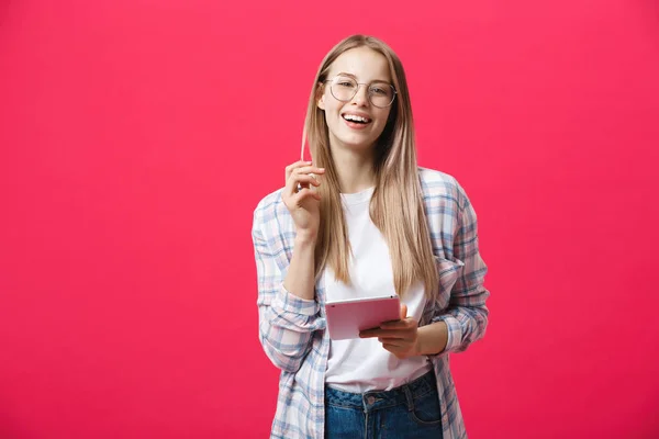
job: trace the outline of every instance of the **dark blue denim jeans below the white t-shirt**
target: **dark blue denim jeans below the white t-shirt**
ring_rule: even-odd
[[[325,438],[442,438],[435,371],[387,392],[325,387]]]

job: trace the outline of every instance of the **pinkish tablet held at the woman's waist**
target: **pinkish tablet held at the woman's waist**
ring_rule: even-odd
[[[325,317],[331,339],[359,338],[360,330],[399,320],[401,302],[396,294],[326,302]]]

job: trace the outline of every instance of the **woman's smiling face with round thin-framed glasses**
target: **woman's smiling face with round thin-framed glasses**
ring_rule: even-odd
[[[331,148],[372,149],[378,137],[382,134],[391,111],[391,105],[379,108],[369,100],[369,85],[372,99],[378,103],[379,93],[391,92],[386,87],[391,85],[391,74],[387,58],[368,47],[357,47],[344,52],[332,64],[327,79],[336,77],[342,79],[334,81],[334,94],[332,82],[326,82],[317,105],[325,112],[325,123],[330,132]],[[349,97],[347,88],[351,87],[349,81],[358,82],[357,93],[348,101],[340,101],[344,91]],[[342,91],[342,89],[344,91]],[[386,99],[384,99],[386,100]]]

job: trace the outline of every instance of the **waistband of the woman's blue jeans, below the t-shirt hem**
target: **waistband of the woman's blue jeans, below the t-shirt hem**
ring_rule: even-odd
[[[431,370],[416,380],[390,391],[350,393],[325,386],[325,403],[348,408],[373,410],[398,404],[410,405],[413,399],[428,393],[437,393],[435,370]]]

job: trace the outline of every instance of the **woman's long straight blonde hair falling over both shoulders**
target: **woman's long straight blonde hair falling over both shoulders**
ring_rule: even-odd
[[[317,106],[317,100],[334,60],[356,47],[368,47],[387,58],[396,90],[389,121],[376,145],[376,189],[370,202],[370,216],[389,246],[396,293],[403,296],[411,285],[421,281],[429,297],[438,284],[438,273],[418,179],[405,72],[395,53],[372,36],[353,35],[334,46],[321,63],[309,98],[302,151],[306,139],[314,166],[325,168],[323,183],[317,189],[321,195],[321,225],[315,248],[315,275],[317,278],[330,264],[337,280],[350,284],[348,263],[351,249],[340,187],[330,150],[324,111]]]

